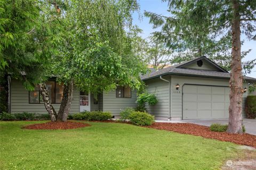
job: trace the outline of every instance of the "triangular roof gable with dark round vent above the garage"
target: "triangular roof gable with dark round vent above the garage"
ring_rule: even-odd
[[[183,64],[179,64],[178,66],[176,66],[176,68],[211,70],[228,73],[227,70],[223,69],[221,66],[209,60],[205,56],[196,58],[195,60],[191,60]]]

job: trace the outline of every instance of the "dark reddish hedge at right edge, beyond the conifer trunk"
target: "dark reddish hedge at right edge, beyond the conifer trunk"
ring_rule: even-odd
[[[247,118],[256,118],[256,96],[247,96],[245,112]]]

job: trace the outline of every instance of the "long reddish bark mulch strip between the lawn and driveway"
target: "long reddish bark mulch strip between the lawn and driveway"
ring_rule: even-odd
[[[191,134],[203,138],[216,139],[220,141],[232,142],[238,145],[247,145],[256,148],[256,135],[243,133],[231,134],[227,132],[212,132],[210,128],[192,123],[158,123],[155,122],[147,128],[173,131],[183,134]]]

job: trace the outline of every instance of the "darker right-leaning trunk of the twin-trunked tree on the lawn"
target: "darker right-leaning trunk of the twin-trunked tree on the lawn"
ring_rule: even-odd
[[[58,120],[66,122],[68,118],[69,109],[73,99],[74,82],[70,80],[67,85],[65,85],[63,90],[63,97],[61,100],[61,105],[58,113]]]

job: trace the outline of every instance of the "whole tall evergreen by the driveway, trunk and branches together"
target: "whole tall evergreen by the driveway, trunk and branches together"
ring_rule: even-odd
[[[206,52],[211,54],[210,49],[214,49],[217,54],[219,51],[219,54],[214,56],[216,53],[213,53],[210,58],[216,57],[217,60],[214,58],[213,60],[217,63],[230,61],[230,106],[227,131],[243,133],[242,70],[243,67],[252,69],[255,60],[242,66],[241,32],[250,40],[256,39],[256,1],[170,0],[169,11],[170,17],[145,13],[150,17],[150,22],[154,23],[154,27],[162,25],[159,38],[165,40],[167,45],[178,51],[197,52],[198,56],[207,55]],[[229,50],[231,57],[225,55]]]

